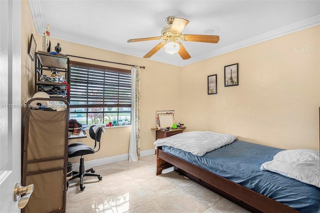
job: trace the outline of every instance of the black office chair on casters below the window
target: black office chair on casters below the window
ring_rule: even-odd
[[[84,159],[83,155],[85,154],[93,154],[94,152],[97,152],[100,149],[100,138],[102,133],[102,126],[99,126],[96,129],[96,133],[93,131],[93,126],[91,125],[89,128],[89,135],[92,139],[94,139],[94,146],[91,148],[90,146],[85,145],[81,142],[75,142],[68,145],[68,157],[75,157],[75,156],[81,156],[80,157],[80,165],[79,165],[79,171],[72,171],[72,177],[74,178],[80,178],[80,190],[83,190],[85,186],[83,185],[83,177],[84,176],[97,176],[99,180],[102,179],[102,176],[100,174],[95,174],[93,168],[89,168],[84,170]],[[99,144],[99,147],[97,150],[94,150],[97,143]]]

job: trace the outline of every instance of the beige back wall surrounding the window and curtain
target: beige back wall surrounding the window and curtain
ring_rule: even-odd
[[[156,110],[174,109],[176,110],[176,118],[179,119],[180,96],[167,95],[167,93],[159,91],[165,91],[167,88],[175,87],[177,89],[176,93],[180,94],[180,67],[76,44],[52,37],[50,38],[50,41],[53,47],[57,42],[60,43],[62,49],[60,53],[145,66],[145,69],[141,69],[140,80],[140,150],[154,148],[153,142],[155,141],[155,132],[151,131],[150,128],[156,127]],[[70,60],[88,63],[95,62],[76,57],[70,57]],[[131,66],[121,66],[112,63],[104,63],[104,65],[131,68]],[[102,134],[101,149],[99,152],[94,155],[87,155],[85,159],[90,160],[128,153],[129,136],[129,127],[106,128],[105,133]],[[86,138],[82,139],[82,142],[83,141],[89,144],[92,142],[92,139]],[[74,140],[70,140],[69,142],[74,142]]]

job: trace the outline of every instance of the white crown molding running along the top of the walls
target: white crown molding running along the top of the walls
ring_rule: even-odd
[[[33,17],[36,31],[38,34],[42,34],[42,32],[45,30],[45,24],[43,23],[42,16],[41,16],[42,13],[41,13],[41,9],[40,9],[39,0],[32,0],[32,1],[29,0],[28,2],[29,2],[29,7],[31,10],[31,14]],[[210,52],[201,54],[196,57],[192,57],[188,60],[174,61],[174,60],[167,60],[166,59],[164,61],[163,58],[158,57],[156,55],[153,55],[152,58],[148,58],[148,59],[162,62],[162,63],[168,63],[168,64],[172,64],[172,65],[176,65],[176,66],[184,66],[187,64],[198,62],[198,61],[210,58],[210,57],[224,54],[226,52],[230,52],[230,51],[233,51],[233,50],[236,50],[239,48],[250,46],[250,45],[253,45],[253,44],[256,44],[259,42],[263,42],[265,40],[269,40],[269,39],[272,39],[275,37],[279,37],[279,36],[282,36],[285,34],[289,34],[289,33],[299,31],[299,30],[309,28],[309,27],[319,25],[319,24],[320,24],[320,15],[316,15],[314,17],[290,24],[288,26],[285,26],[285,27],[282,27],[282,28],[279,28],[279,29],[276,29],[276,30],[273,30],[273,31],[270,31],[267,33],[263,33],[261,35],[243,40],[241,42],[234,43],[234,44],[225,46],[223,48],[219,48],[214,51],[210,51]],[[133,49],[128,49],[128,48],[121,48],[121,47],[118,47],[115,45],[109,45],[107,43],[99,42],[96,40],[91,40],[88,38],[78,37],[78,36],[71,35],[71,34],[59,33],[54,30],[50,30],[50,36],[54,37],[54,38],[74,42],[74,43],[79,43],[79,44],[83,44],[83,45],[87,45],[87,46],[92,46],[92,47],[96,47],[96,48],[100,48],[100,49],[105,49],[108,51],[121,53],[121,54],[126,54],[126,55],[131,55],[131,56],[136,56],[136,57],[142,57],[144,55],[144,52],[135,51]]]

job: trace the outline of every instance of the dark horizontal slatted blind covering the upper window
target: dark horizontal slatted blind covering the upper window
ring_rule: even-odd
[[[70,107],[131,107],[131,73],[77,61],[69,62]]]

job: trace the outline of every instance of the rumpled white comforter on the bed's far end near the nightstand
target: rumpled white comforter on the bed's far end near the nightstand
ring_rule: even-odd
[[[167,145],[182,149],[194,155],[202,156],[206,152],[217,149],[235,140],[236,136],[212,131],[188,131],[157,139],[153,144],[157,146]]]

